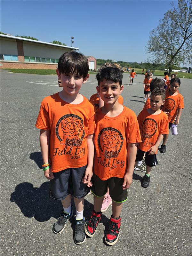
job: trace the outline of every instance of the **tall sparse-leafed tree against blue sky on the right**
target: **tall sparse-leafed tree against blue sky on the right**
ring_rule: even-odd
[[[192,59],[192,0],[178,0],[178,5],[164,14],[150,32],[147,52],[155,63],[172,69]],[[152,61],[150,61],[152,62]]]

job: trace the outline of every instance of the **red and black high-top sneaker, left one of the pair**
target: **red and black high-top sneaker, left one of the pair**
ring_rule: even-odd
[[[92,211],[91,218],[85,225],[85,234],[87,234],[87,236],[94,236],[95,230],[98,224],[101,222],[101,214],[101,212],[95,212],[94,210]]]

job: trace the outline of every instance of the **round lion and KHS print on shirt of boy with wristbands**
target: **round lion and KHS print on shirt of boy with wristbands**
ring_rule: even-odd
[[[62,116],[56,125],[56,135],[60,144],[81,146],[84,137],[82,118],[73,114]]]

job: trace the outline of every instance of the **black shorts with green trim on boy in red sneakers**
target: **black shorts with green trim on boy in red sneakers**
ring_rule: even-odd
[[[93,173],[91,178],[93,186],[91,187],[92,194],[97,197],[102,197],[107,193],[109,188],[109,195],[116,203],[123,203],[127,200],[127,189],[123,190],[124,178],[111,177],[108,180],[101,180]]]

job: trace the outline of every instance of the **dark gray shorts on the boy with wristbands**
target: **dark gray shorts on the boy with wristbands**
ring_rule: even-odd
[[[82,182],[86,167],[87,165],[53,172],[54,179],[50,180],[49,196],[57,200],[63,200],[70,194],[76,198],[86,196],[90,192],[90,188]]]

